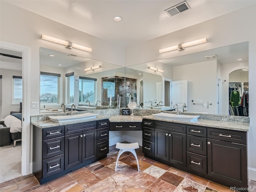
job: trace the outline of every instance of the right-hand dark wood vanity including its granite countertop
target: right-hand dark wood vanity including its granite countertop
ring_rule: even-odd
[[[225,186],[248,187],[249,125],[144,116],[144,156]]]

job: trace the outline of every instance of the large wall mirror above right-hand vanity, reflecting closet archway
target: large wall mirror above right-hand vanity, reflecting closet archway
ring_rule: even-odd
[[[150,70],[149,67],[158,70]],[[240,101],[243,94],[248,93],[248,42],[129,68],[143,74],[140,81],[143,82],[143,86],[140,86],[143,91],[138,92],[143,93],[140,95],[140,101],[143,101],[144,108],[159,106],[161,101],[164,106],[173,106],[176,97],[181,100],[178,101],[180,110],[183,110],[185,103],[188,112],[229,115],[232,90],[240,88]],[[159,72],[159,69],[162,72]],[[180,89],[174,89],[174,85],[181,84],[183,80],[187,81],[186,96],[177,97],[175,94],[180,92]],[[248,116],[244,113],[238,115]]]

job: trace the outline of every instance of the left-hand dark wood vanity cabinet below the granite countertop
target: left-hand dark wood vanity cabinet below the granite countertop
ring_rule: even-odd
[[[33,174],[40,184],[105,158],[108,119],[51,128],[33,126]]]

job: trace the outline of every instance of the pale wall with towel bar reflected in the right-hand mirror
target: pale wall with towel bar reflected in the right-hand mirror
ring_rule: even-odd
[[[188,80],[188,112],[216,114],[216,77],[216,60],[173,67],[174,81]],[[193,104],[192,100],[196,103],[197,99],[212,105],[203,108],[202,104]]]

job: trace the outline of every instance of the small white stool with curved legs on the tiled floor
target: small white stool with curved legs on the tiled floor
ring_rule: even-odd
[[[139,148],[138,142],[137,143],[116,143],[116,148],[120,149],[119,152],[118,152],[118,155],[117,155],[117,159],[116,159],[116,167],[117,167],[117,162],[118,162],[119,157],[124,152],[129,151],[135,156],[135,158],[137,160],[138,171],[140,171],[140,166],[139,166],[137,154],[136,154],[136,151],[135,151],[135,149]]]

